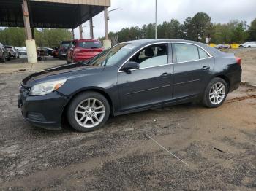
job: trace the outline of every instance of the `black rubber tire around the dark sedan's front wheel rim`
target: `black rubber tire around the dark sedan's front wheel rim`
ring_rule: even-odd
[[[81,101],[86,100],[88,98],[95,98],[101,101],[102,104],[105,106],[105,115],[102,121],[98,125],[91,128],[83,127],[75,119],[75,109],[77,108],[78,104],[80,104]],[[109,106],[108,100],[102,94],[93,92],[93,91],[83,92],[76,95],[75,98],[72,99],[72,101],[70,102],[67,108],[67,120],[69,124],[72,126],[72,128],[75,128],[75,130],[78,130],[80,132],[89,132],[93,130],[98,130],[105,124],[105,122],[108,121],[109,115],[110,115],[110,106]]]

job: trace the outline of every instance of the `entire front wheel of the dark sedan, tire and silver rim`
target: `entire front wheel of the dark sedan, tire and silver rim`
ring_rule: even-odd
[[[99,113],[96,114],[97,112]],[[109,115],[110,106],[108,100],[100,93],[92,91],[80,93],[75,96],[67,108],[67,120],[69,124],[72,128],[80,132],[98,130],[108,121]],[[78,122],[79,120],[80,122]]]

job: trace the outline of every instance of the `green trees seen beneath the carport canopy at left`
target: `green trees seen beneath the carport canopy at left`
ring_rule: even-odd
[[[68,29],[37,29],[34,28],[34,38],[38,47],[59,47],[62,40],[71,40],[72,33]],[[0,42],[15,47],[25,46],[24,28],[0,28]]]

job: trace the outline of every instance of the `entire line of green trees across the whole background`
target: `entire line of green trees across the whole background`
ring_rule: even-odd
[[[119,42],[135,39],[154,39],[155,24],[142,27],[122,28],[118,32],[110,32],[110,39],[118,36]],[[72,39],[68,29],[34,28],[34,36],[38,47],[59,47],[62,40]],[[211,38],[214,44],[243,43],[256,41],[256,18],[248,26],[244,20],[231,20],[229,23],[212,23],[211,17],[205,12],[198,12],[194,17],[187,17],[183,23],[176,19],[157,25],[159,39],[187,39],[206,42]],[[104,37],[99,38],[104,39]],[[25,46],[24,28],[0,28],[0,42],[15,47]]]

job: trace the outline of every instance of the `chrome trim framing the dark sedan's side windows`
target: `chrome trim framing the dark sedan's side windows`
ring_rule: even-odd
[[[137,50],[135,53],[133,53],[131,56],[129,56],[129,58],[127,58],[126,61],[124,61],[124,63],[121,64],[121,66],[119,67],[118,69],[118,73],[120,72],[124,72],[124,71],[121,71],[121,67],[124,66],[125,63],[127,63],[127,61],[129,61],[129,59],[131,59],[134,55],[136,55],[138,52],[140,52],[140,50],[143,50],[143,48],[145,47],[148,47],[148,46],[151,46],[151,45],[154,45],[154,44],[192,44],[194,46],[197,46],[197,47],[200,47],[203,51],[206,52],[206,54],[209,56],[207,58],[200,58],[200,59],[197,59],[197,60],[193,60],[193,61],[200,61],[200,60],[204,60],[204,59],[208,59],[208,58],[212,58],[213,56],[207,51],[205,50],[203,47],[201,47],[200,45],[197,45],[197,44],[194,44],[194,43],[191,43],[191,42],[175,42],[175,41],[169,41],[169,42],[154,42],[154,43],[151,43],[151,44],[147,44],[143,47],[141,47],[139,50]],[[186,62],[192,62],[192,61],[184,61],[184,62],[176,62],[176,63],[186,63]],[[158,66],[150,66],[150,67],[146,67],[146,68],[142,68],[142,69],[149,69],[149,68],[154,68],[154,67],[159,67],[159,66],[165,66],[165,65],[169,65],[169,64],[176,64],[176,63],[165,63],[165,64],[162,64],[162,65],[158,65]],[[140,70],[140,69],[137,69],[137,70]],[[134,70],[131,70],[131,71],[134,71]]]

